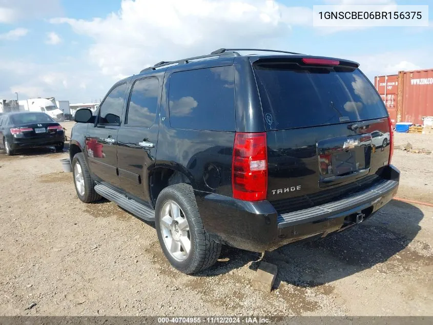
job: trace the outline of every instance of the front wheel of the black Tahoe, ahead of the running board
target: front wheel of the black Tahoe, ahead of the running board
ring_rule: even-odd
[[[72,174],[74,177],[75,190],[81,201],[84,203],[92,203],[102,198],[95,191],[96,184],[90,176],[89,169],[87,169],[83,152],[79,152],[72,159]]]

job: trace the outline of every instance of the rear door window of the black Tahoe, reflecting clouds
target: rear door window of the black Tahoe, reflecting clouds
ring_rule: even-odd
[[[128,106],[129,126],[150,127],[158,107],[159,83],[156,78],[137,80],[131,91]]]

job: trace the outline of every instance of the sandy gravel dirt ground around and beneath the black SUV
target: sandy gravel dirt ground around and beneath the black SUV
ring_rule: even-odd
[[[78,200],[66,157],[0,151],[0,315],[433,315],[432,207],[392,201],[352,231],[266,253],[278,276],[264,294],[251,288],[255,253],[224,247],[201,274],[172,269],[152,225]],[[433,202],[433,155],[393,162],[398,196]]]

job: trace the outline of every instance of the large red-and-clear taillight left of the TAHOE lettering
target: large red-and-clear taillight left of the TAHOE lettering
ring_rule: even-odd
[[[233,197],[262,201],[267,192],[266,133],[236,132],[232,161]]]

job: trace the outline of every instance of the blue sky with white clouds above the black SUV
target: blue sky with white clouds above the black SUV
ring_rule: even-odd
[[[0,0],[0,99],[99,101],[160,61],[225,47],[354,60],[368,78],[433,68],[428,27],[313,26],[313,5],[433,0]]]

